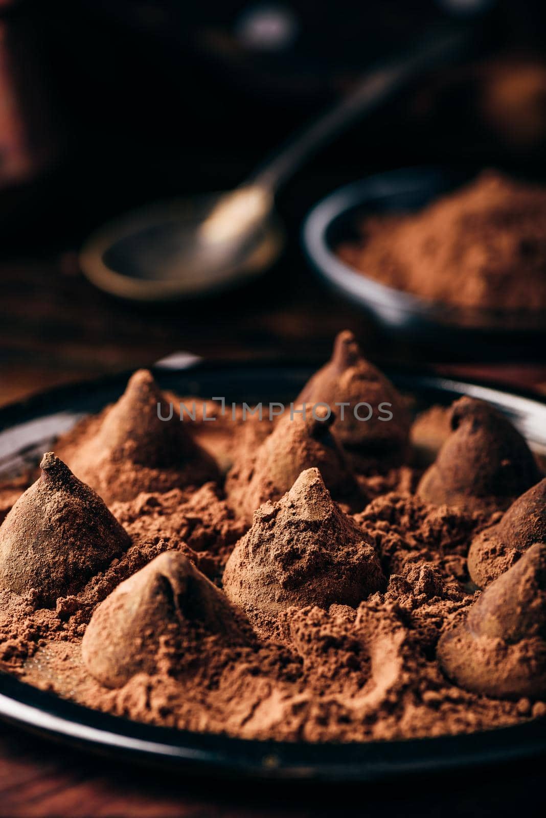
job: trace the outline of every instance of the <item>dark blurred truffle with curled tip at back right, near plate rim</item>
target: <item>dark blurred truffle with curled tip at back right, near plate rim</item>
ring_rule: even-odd
[[[526,441],[488,403],[459,398],[452,407],[451,429],[418,484],[424,500],[468,511],[505,509],[539,481]]]

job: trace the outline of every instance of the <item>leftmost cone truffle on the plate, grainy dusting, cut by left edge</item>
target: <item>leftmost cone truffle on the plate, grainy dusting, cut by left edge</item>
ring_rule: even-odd
[[[0,526],[0,589],[34,588],[44,605],[54,605],[131,543],[101,497],[52,452],[40,468]]]

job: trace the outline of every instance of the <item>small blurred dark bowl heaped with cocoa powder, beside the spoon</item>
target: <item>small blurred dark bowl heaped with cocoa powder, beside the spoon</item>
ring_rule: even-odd
[[[494,170],[401,169],[311,210],[303,244],[324,281],[390,330],[544,334],[546,187]]]

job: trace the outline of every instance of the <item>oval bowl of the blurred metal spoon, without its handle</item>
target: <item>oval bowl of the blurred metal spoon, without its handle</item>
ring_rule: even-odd
[[[253,201],[253,211],[239,218],[244,229],[221,231],[234,199],[210,193],[126,213],[90,236],[80,253],[82,270],[101,290],[142,301],[199,297],[242,284],[275,261],[284,230],[271,206],[262,203],[258,212]]]

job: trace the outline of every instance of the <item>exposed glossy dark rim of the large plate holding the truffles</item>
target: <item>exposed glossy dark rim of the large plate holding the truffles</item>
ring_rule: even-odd
[[[197,362],[158,367],[163,389],[247,402],[290,400],[311,371],[306,366],[240,366]],[[537,398],[432,375],[388,373],[418,408],[472,394],[494,403],[538,452],[546,452],[546,403]],[[35,465],[56,434],[119,397],[127,375],[61,387],[0,410],[0,476]],[[293,744],[232,739],[172,730],[110,716],[37,690],[0,673],[0,717],[52,739],[193,775],[260,779],[372,781],[401,775],[486,766],[546,754],[544,720],[472,735],[365,744]]]

